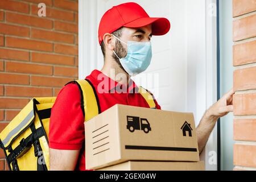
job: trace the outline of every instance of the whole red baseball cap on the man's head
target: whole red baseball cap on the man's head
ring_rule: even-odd
[[[121,27],[138,28],[152,24],[152,35],[164,35],[171,28],[166,18],[150,18],[137,3],[128,2],[106,11],[98,28],[98,42],[102,43],[106,33],[112,34]]]

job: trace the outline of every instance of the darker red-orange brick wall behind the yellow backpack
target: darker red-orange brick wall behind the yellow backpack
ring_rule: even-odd
[[[77,11],[77,0],[0,0],[0,132],[32,97],[56,96],[77,79]],[[0,170],[3,158],[0,150]]]

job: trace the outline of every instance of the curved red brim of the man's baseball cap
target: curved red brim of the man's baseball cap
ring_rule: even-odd
[[[170,31],[171,23],[167,18],[139,18],[124,27],[139,28],[152,24],[152,35],[165,35]]]

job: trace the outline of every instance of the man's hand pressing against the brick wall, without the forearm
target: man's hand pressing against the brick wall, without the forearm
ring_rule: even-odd
[[[229,112],[233,112],[233,95],[234,90],[232,89],[218,100],[218,102],[213,104],[205,114],[217,121],[218,118],[224,117]]]

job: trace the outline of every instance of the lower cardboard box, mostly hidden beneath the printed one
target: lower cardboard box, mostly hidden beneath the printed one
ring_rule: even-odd
[[[203,161],[200,162],[141,162],[129,161],[114,166],[98,169],[98,171],[205,171]]]

